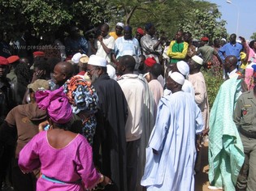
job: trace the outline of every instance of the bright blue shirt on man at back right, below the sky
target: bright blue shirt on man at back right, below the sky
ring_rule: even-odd
[[[237,58],[237,60],[239,61],[240,53],[241,53],[242,49],[243,49],[243,46],[240,43],[236,42],[236,45],[227,43],[226,45],[223,45],[223,47],[221,47],[219,49],[218,54],[222,60],[225,60],[225,57],[232,55],[232,56],[235,56]]]

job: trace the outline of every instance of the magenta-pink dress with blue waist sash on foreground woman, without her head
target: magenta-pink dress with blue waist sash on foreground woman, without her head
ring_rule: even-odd
[[[92,148],[80,134],[67,146],[56,149],[50,146],[47,131],[42,131],[20,151],[19,165],[24,172],[41,167],[41,173],[51,179],[40,177],[37,180],[37,190],[80,191],[92,188],[100,178],[93,167]]]

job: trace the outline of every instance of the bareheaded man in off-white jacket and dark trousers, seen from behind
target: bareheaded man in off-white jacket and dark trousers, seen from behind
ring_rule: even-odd
[[[117,67],[121,77],[117,81],[124,91],[128,103],[128,119],[125,125],[128,190],[139,190],[145,166],[145,146],[154,126],[154,98],[148,83],[141,75],[133,74],[136,61],[125,55],[119,59]],[[139,181],[138,181],[139,182]]]

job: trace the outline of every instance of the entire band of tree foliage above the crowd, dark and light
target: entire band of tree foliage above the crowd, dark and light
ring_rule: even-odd
[[[72,24],[85,32],[106,21],[133,28],[152,22],[170,39],[180,28],[193,38],[207,35],[213,39],[227,35],[220,17],[218,7],[203,0],[0,0],[0,31],[9,39],[26,30],[44,35]]]

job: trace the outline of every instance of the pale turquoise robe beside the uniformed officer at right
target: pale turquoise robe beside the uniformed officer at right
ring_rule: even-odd
[[[240,135],[232,119],[236,100],[241,95],[241,79],[228,79],[219,88],[210,111],[210,185],[234,191],[245,155]]]

